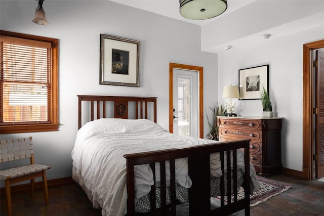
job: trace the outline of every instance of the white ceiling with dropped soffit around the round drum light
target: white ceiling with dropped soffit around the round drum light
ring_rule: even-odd
[[[182,17],[179,0],[110,1],[201,26],[201,50],[212,53],[255,44],[262,34],[275,39],[320,26],[324,35],[324,0],[227,0],[227,10],[207,20]]]

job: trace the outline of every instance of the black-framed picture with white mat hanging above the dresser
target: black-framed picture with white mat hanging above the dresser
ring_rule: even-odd
[[[269,65],[238,70],[239,100],[261,99],[260,91],[269,92]]]

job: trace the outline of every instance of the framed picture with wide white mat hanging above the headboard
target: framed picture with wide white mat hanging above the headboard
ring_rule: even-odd
[[[100,34],[100,84],[139,87],[140,41]]]

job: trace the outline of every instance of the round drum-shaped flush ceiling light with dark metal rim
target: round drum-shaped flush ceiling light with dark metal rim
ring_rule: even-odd
[[[224,13],[226,0],[179,0],[180,14],[192,20],[205,20]]]

